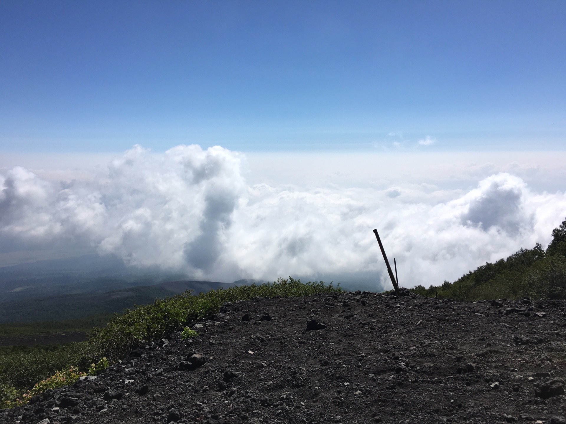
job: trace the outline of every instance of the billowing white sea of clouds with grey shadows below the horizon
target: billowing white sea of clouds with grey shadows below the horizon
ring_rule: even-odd
[[[564,192],[535,191],[513,172],[467,188],[340,184],[338,174],[327,184],[261,182],[246,155],[219,146],[134,146],[91,179],[38,174],[0,174],[3,252],[88,246],[127,265],[226,282],[291,275],[388,288],[378,228],[401,285],[440,284],[546,246],[566,215]]]

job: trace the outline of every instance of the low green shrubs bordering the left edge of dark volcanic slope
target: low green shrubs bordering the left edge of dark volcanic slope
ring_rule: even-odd
[[[14,405],[15,399],[26,399],[22,396],[27,390],[45,379],[49,379],[49,384],[53,384],[53,381],[66,381],[53,377],[58,375],[57,371],[69,370],[72,366],[72,375],[89,369],[91,372],[98,372],[101,366],[117,361],[132,349],[161,339],[171,331],[182,330],[190,322],[218,313],[226,302],[255,297],[312,296],[341,291],[340,287],[333,287],[332,284],[301,283],[301,280],[289,277],[280,278],[274,283],[219,288],[197,296],[185,292],[158,299],[151,305],[126,309],[122,315],[115,315],[106,326],[91,330],[84,342],[33,348],[0,348],[0,408],[2,404]],[[93,364],[97,365],[93,367]]]

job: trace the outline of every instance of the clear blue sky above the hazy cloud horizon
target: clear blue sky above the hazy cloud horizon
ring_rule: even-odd
[[[565,22],[563,1],[3,1],[0,153],[564,150]]]

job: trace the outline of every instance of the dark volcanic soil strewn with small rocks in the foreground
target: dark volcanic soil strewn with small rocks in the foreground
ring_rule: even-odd
[[[564,301],[238,302],[0,422],[561,423],[563,324]]]

